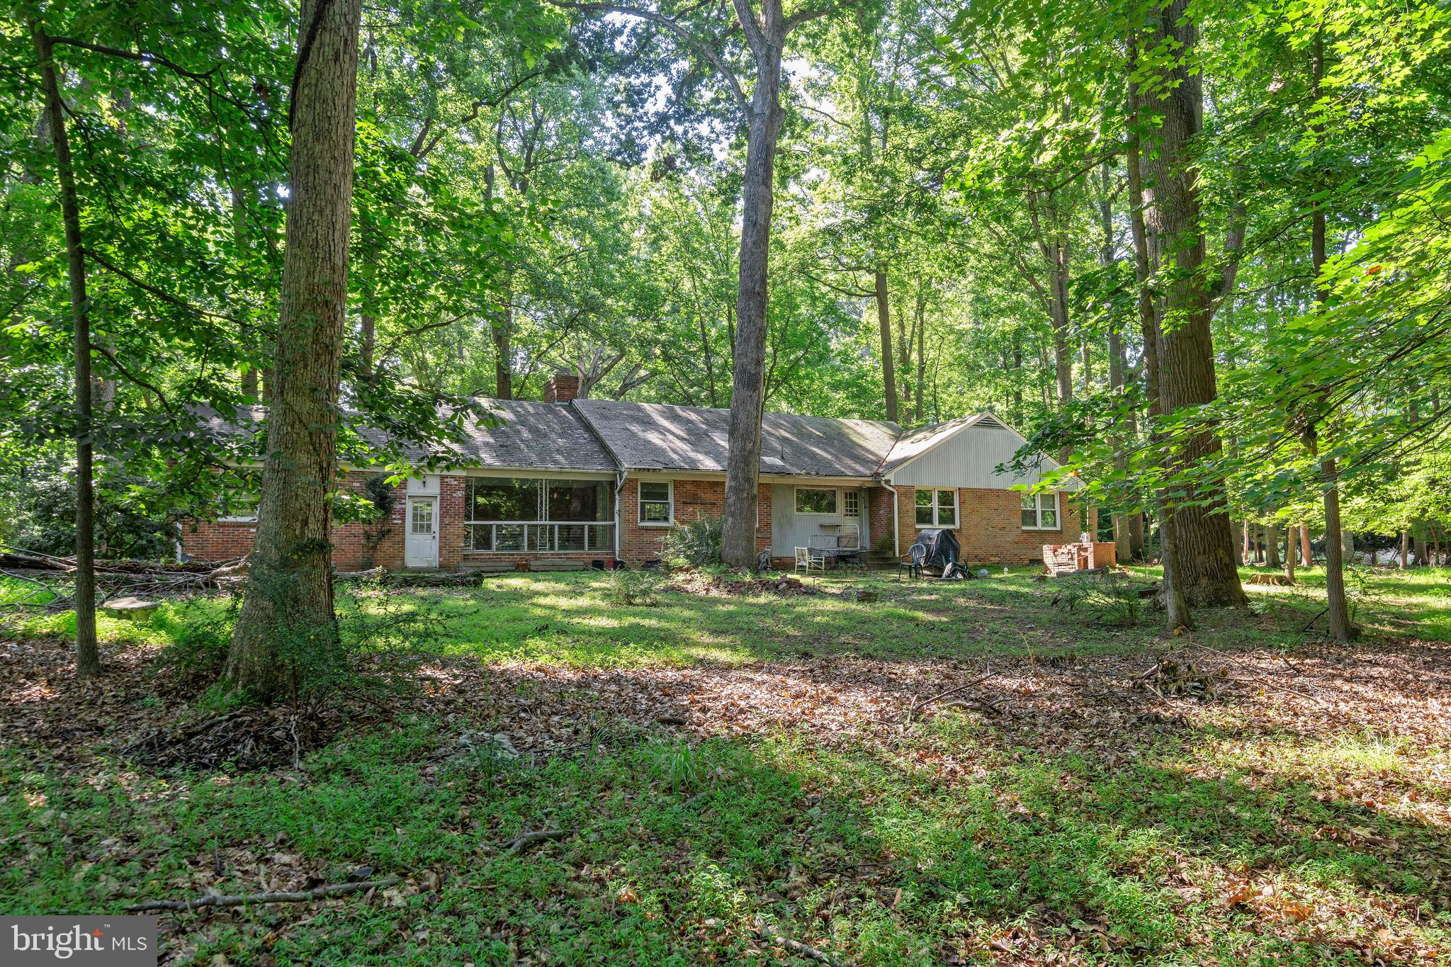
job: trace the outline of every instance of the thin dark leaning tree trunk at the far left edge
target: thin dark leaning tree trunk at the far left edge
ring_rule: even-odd
[[[55,151],[55,177],[65,226],[65,261],[71,283],[71,349],[75,357],[75,676],[100,674],[96,647],[96,494],[91,486],[91,371],[90,300],[86,294],[86,251],[81,244],[81,209],[75,194],[75,168],[65,132],[65,109],[55,75],[51,38],[38,20],[30,22],[35,55],[45,90],[45,117]]]

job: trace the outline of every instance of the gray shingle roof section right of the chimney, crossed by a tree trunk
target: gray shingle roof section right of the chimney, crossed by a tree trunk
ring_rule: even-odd
[[[575,400],[627,470],[724,471],[730,410]],[[901,433],[895,423],[766,413],[760,473],[871,477]]]

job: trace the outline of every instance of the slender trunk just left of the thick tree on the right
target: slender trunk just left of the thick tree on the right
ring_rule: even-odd
[[[1133,229],[1133,274],[1138,290],[1138,307],[1139,307],[1139,329],[1143,335],[1143,390],[1149,403],[1149,426],[1154,428],[1155,419],[1162,413],[1162,402],[1159,399],[1159,357],[1158,357],[1158,342],[1159,342],[1159,322],[1154,312],[1154,297],[1149,291],[1149,248],[1148,248],[1148,231],[1143,223],[1143,183],[1139,171],[1139,136],[1136,132],[1138,126],[1138,109],[1139,109],[1139,94],[1138,86],[1133,83],[1132,75],[1135,70],[1135,39],[1129,38],[1129,151],[1126,154],[1126,175],[1129,181],[1129,225]],[[1149,438],[1158,442],[1158,429],[1149,431]],[[1171,528],[1172,522],[1165,513],[1164,496],[1158,491],[1154,494],[1155,516],[1159,520],[1159,558],[1164,563],[1164,580],[1159,587],[1159,600],[1164,605],[1165,621],[1171,629],[1175,628],[1190,628],[1193,625],[1193,618],[1190,616],[1188,605],[1184,600],[1184,593],[1180,590],[1178,578],[1174,574],[1174,555],[1171,552],[1174,547]]]

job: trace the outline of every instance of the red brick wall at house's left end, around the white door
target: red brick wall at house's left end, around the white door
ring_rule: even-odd
[[[369,471],[350,471],[342,486],[367,496]],[[448,477],[444,477],[447,487]],[[460,480],[454,477],[453,480]],[[460,484],[461,487],[461,484]],[[383,520],[369,523],[337,523],[332,526],[332,565],[340,571],[361,571],[370,567],[390,570],[403,567],[403,507],[406,487],[393,489],[393,507]],[[459,513],[463,512],[463,491],[459,491]],[[447,531],[444,531],[447,534]],[[257,536],[255,523],[234,520],[189,520],[181,526],[181,549],[199,561],[226,561],[250,554]],[[463,531],[459,531],[463,541]],[[440,548],[440,554],[443,554]],[[457,563],[457,561],[456,561]]]

